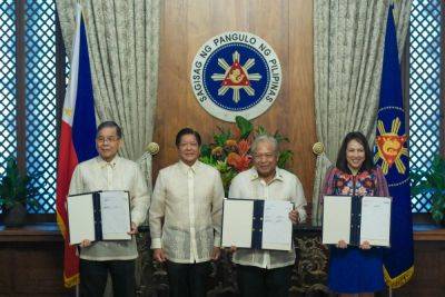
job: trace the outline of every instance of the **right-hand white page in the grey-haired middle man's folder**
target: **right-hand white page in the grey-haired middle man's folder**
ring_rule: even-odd
[[[265,200],[263,214],[263,249],[291,249],[293,226],[290,201]]]

